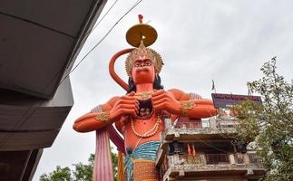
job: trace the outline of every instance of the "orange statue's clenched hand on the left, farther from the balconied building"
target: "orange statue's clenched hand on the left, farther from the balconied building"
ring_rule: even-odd
[[[122,115],[132,115],[133,117],[137,115],[139,102],[134,99],[134,92],[128,95],[122,96],[117,100],[110,110],[110,120],[118,120]]]

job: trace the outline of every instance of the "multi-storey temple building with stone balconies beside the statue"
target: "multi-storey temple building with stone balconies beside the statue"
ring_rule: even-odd
[[[238,120],[218,108],[210,119],[165,119],[156,166],[161,180],[251,181],[265,173],[252,144],[233,140]]]

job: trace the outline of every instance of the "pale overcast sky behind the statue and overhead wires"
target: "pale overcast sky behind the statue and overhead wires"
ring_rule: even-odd
[[[105,5],[100,18],[114,0]],[[97,43],[136,0],[118,1],[89,36],[83,55]],[[277,56],[279,74],[293,78],[292,1],[144,0],[113,29],[112,33],[71,75],[74,105],[51,148],[45,148],[34,180],[61,167],[86,163],[94,152],[95,134],[77,133],[74,119],[125,91],[108,73],[115,52],[129,48],[125,33],[138,23],[138,14],[158,32],[151,48],[165,63],[161,80],[166,90],[177,88],[210,99],[211,80],[217,92],[247,94],[247,81],[259,79],[263,62]],[[126,81],[125,57],[116,70]]]

